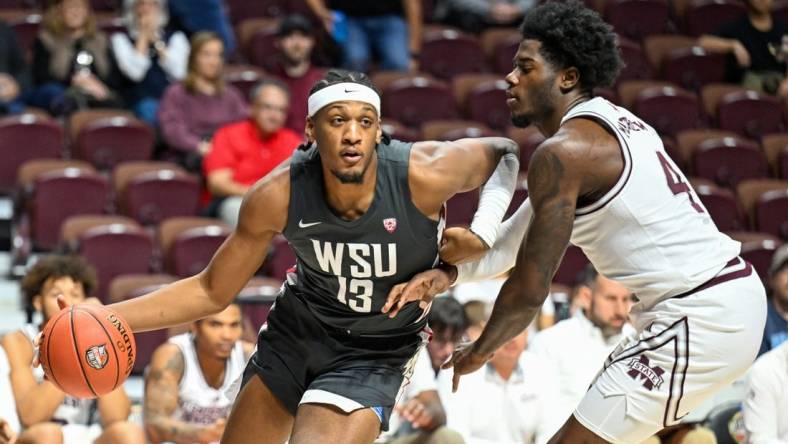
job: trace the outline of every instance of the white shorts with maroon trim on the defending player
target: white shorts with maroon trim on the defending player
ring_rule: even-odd
[[[640,443],[741,376],[755,359],[766,294],[740,258],[717,277],[632,312],[636,332],[605,362],[575,418],[614,443]]]

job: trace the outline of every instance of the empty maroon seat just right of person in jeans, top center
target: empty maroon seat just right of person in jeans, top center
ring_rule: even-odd
[[[453,29],[426,32],[419,66],[441,79],[457,74],[487,71],[487,59],[479,41]]]

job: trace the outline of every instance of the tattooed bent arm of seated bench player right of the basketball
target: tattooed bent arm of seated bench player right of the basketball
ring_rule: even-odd
[[[178,385],[183,376],[184,361],[180,349],[164,344],[156,349],[145,377],[143,406],[145,433],[154,443],[202,442],[205,427],[174,419],[178,407]]]

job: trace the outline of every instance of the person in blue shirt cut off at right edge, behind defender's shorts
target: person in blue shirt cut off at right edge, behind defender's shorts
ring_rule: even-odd
[[[769,267],[771,303],[766,311],[766,327],[759,355],[788,341],[788,244],[774,252]]]

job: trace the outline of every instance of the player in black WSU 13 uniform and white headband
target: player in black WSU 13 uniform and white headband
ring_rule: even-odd
[[[288,238],[297,269],[260,334],[223,443],[371,443],[426,322],[417,306],[382,313],[390,288],[437,263],[444,202],[487,182],[484,197],[507,159],[512,188],[516,178],[509,139],[390,140],[363,74],[329,72],[310,92],[309,116],[309,142],[246,194],[237,228],[204,271],[110,306],[138,332],[218,313],[271,239]],[[469,244],[484,243],[468,233]]]

